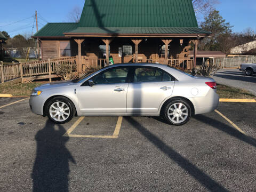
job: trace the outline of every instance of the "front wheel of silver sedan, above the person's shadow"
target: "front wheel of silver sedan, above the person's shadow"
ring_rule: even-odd
[[[55,97],[47,103],[46,114],[54,123],[64,124],[74,117],[75,106],[68,98]]]

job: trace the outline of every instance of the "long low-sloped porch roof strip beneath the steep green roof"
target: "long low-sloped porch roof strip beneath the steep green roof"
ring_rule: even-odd
[[[197,27],[78,27],[65,34],[210,34],[210,32]]]

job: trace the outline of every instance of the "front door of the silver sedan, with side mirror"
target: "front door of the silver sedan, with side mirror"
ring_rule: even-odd
[[[83,115],[111,115],[126,113],[126,94],[128,89],[129,67],[106,69],[91,78],[78,89],[78,103]]]

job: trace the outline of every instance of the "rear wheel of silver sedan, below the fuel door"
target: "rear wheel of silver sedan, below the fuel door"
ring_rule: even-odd
[[[164,107],[163,117],[171,125],[184,125],[191,118],[191,106],[183,99],[171,100]]]

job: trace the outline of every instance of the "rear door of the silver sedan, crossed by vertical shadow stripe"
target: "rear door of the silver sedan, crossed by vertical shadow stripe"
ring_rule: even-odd
[[[157,113],[165,98],[172,95],[174,80],[156,67],[135,67],[127,91],[127,113]]]

